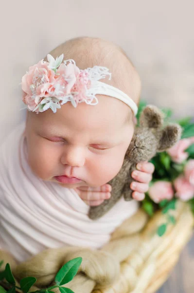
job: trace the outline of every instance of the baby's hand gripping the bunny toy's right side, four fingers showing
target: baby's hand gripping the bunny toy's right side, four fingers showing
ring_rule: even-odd
[[[141,162],[137,164],[137,169],[131,173],[133,179],[138,182],[132,182],[130,188],[134,190],[132,197],[138,201],[145,198],[144,192],[148,191],[149,183],[152,180],[154,172],[154,165],[148,162]]]

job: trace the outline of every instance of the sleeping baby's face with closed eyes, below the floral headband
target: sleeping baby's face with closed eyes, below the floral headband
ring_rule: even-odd
[[[28,112],[28,163],[36,176],[75,188],[98,187],[117,175],[134,132],[132,112],[118,99],[98,96],[98,100],[97,105],[81,103],[76,108],[68,102],[56,113]],[[58,182],[55,176],[64,174],[81,181]]]

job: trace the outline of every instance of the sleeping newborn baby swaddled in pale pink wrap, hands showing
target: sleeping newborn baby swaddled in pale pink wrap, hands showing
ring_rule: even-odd
[[[61,54],[80,69],[106,66],[111,79],[107,73],[101,82],[121,90],[128,102],[102,91],[104,94],[96,94],[96,105],[75,106],[72,101],[56,111],[50,107],[38,113],[32,110],[34,100],[24,93],[26,122],[14,129],[0,148],[0,249],[11,252],[18,261],[47,248],[100,248],[138,209],[136,200],[121,198],[99,220],[88,218],[88,204],[99,205],[110,197],[106,183],[118,174],[131,142],[141,92],[139,75],[121,48],[100,39],[70,40],[51,52],[54,58]],[[52,80],[50,74],[47,78]],[[31,80],[30,74],[23,77],[24,92],[29,88],[33,92],[35,78]],[[72,79],[70,72],[63,82],[70,86]],[[44,97],[45,88],[39,96]],[[143,199],[148,189],[153,166],[142,163],[139,169],[133,177],[141,183],[131,185],[137,200]]]

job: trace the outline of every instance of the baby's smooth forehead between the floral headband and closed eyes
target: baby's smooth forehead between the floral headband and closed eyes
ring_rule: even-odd
[[[70,102],[57,109],[53,113],[51,109],[42,113],[32,113],[32,123],[35,127],[48,129],[62,129],[67,126],[69,129],[85,131],[116,131],[132,122],[132,111],[130,107],[118,99],[98,95],[97,105],[80,103],[74,108]]]

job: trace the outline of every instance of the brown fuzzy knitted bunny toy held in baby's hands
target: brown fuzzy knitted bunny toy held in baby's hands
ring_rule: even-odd
[[[95,220],[102,217],[115,203],[124,196],[126,201],[132,199],[133,190],[130,183],[134,181],[131,173],[136,169],[136,164],[149,161],[157,152],[164,151],[173,146],[181,135],[181,127],[171,124],[163,125],[163,113],[153,105],[144,108],[140,117],[140,127],[136,127],[134,136],[127,148],[123,165],[119,173],[108,182],[111,185],[111,197],[101,205],[90,207],[88,216]]]

